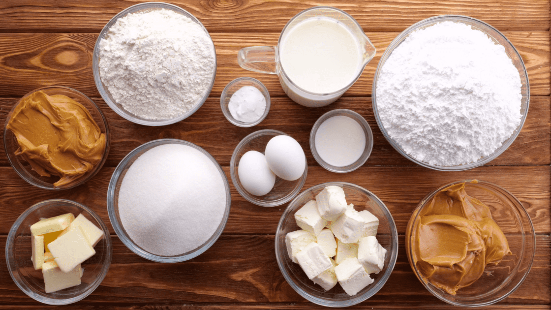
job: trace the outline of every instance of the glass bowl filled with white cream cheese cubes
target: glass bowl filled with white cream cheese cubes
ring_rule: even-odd
[[[339,200],[341,210],[335,211]],[[375,295],[397,255],[390,211],[376,195],[351,183],[305,190],[285,209],[276,231],[276,259],[285,280],[306,300],[327,307],[353,306]]]

